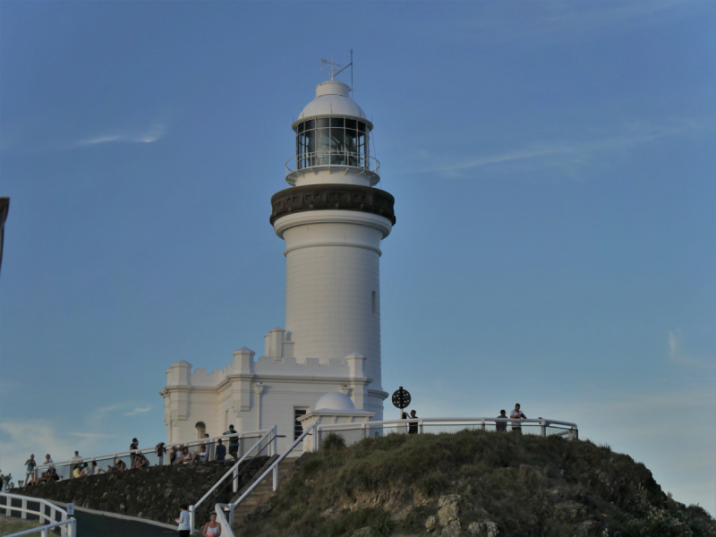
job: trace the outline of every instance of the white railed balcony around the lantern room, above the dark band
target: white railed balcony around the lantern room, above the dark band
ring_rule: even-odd
[[[358,152],[303,153],[286,161],[286,183],[292,186],[296,185],[299,177],[309,174],[318,175],[320,172],[363,177],[370,186],[380,181],[378,159]]]

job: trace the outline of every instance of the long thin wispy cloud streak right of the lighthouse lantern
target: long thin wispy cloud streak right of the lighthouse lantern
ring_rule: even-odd
[[[421,172],[441,173],[459,177],[460,172],[489,166],[515,163],[530,163],[533,167],[559,166],[586,162],[594,153],[600,151],[618,151],[630,149],[638,144],[656,141],[669,136],[700,132],[711,124],[686,120],[671,125],[651,125],[643,123],[625,124],[621,132],[603,136],[591,141],[549,141],[533,143],[520,149],[511,149],[495,155],[453,162],[443,166],[422,168]]]

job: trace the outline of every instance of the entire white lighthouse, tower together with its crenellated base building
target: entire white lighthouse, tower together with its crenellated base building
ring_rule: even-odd
[[[301,431],[296,418],[336,391],[383,418],[379,246],[396,218],[393,196],[372,188],[373,125],[349,91],[333,79],[316,87],[292,125],[291,187],[271,198],[270,222],[286,242],[286,328],[264,335],[258,360],[242,347],[212,372],[173,364],[160,392],[169,442],[276,424],[287,446]]]

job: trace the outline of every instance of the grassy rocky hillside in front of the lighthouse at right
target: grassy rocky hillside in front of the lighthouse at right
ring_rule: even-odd
[[[701,507],[590,441],[465,430],[326,443],[237,535],[716,536]]]

